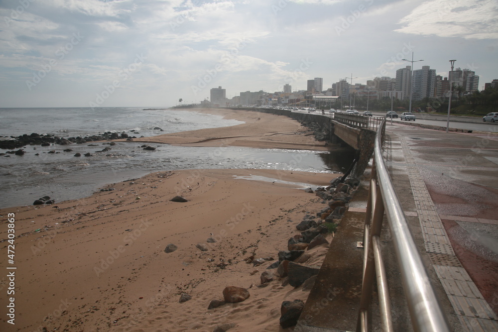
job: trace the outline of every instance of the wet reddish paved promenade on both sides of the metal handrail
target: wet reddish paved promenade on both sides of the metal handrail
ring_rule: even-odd
[[[445,133],[402,124],[386,127],[384,159],[452,331],[498,331],[498,317],[490,306],[496,310],[498,302],[498,252],[493,247],[498,243],[498,137],[490,135]],[[365,176],[368,180],[368,170]],[[362,240],[365,200],[365,194],[360,194],[351,202],[295,331],[355,331],[363,251],[354,243]],[[477,254],[482,257],[469,259],[473,256],[465,250],[473,247],[459,243],[453,230],[447,232],[448,221],[463,230],[469,225],[485,227],[485,233],[472,233],[472,238],[465,239],[479,247]],[[386,224],[382,250],[394,329],[412,331],[400,300],[404,295]],[[490,236],[491,241],[485,241]],[[379,326],[378,319],[373,316],[375,326]]]

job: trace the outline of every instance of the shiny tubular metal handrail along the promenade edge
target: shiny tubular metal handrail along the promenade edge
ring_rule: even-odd
[[[392,233],[403,290],[414,330],[424,332],[450,331],[387,172],[382,156],[381,136],[384,128],[385,119],[377,128],[373,151],[372,179],[365,221],[364,278],[357,331],[368,331],[368,312],[375,272],[379,288],[382,330],[392,331],[389,296],[378,241],[384,211]]]

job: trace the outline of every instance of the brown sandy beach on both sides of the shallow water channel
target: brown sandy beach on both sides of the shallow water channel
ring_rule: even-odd
[[[150,138],[169,144],[240,145],[326,150],[297,121],[271,114],[209,110],[246,121]],[[289,153],[289,159],[292,159]],[[109,184],[91,197],[47,206],[2,209],[15,219],[15,325],[7,323],[1,297],[1,331],[284,331],[282,301],[306,300],[302,286],[260,275],[278,259],[295,225],[323,209],[321,199],[288,184],[327,186],[338,174],[276,170],[180,170]],[[273,179],[268,181],[250,180]],[[186,203],[171,202],[183,196]],[[10,215],[9,215],[10,214]],[[215,243],[207,242],[209,237]],[[332,235],[328,235],[329,241]],[[208,246],[207,251],[196,247]],[[7,241],[1,243],[7,255]],[[178,248],[164,251],[168,244]],[[320,265],[323,244],[308,251]],[[6,261],[6,259],[2,259]],[[4,264],[4,266],[7,263]],[[6,273],[2,292],[9,287]],[[208,310],[226,286],[249,290],[241,303]],[[179,303],[182,293],[192,299]],[[292,330],[292,329],[289,329]],[[285,330],[286,331],[286,330]]]

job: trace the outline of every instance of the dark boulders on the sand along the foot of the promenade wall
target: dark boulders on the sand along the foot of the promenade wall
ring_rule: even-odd
[[[286,248],[276,253],[278,259],[271,256],[256,257],[252,254],[243,259],[246,264],[262,267],[262,273],[259,270],[254,270],[250,275],[260,273],[260,283],[255,285],[257,288],[264,288],[271,283],[279,282],[281,286],[291,286],[294,288],[302,287],[303,291],[310,291],[313,287],[315,279],[320,271],[321,262],[323,262],[324,251],[319,251],[320,246],[328,247],[333,240],[333,233],[342,220],[344,213],[348,210],[348,205],[353,195],[356,193],[360,181],[357,179],[348,179],[344,183],[342,178],[336,178],[331,181],[331,185],[325,188],[317,188],[313,191],[311,188],[306,189],[307,193],[315,194],[326,205],[320,211],[314,213],[302,211],[305,215],[302,221],[295,224],[295,229],[298,233],[292,235],[287,240]],[[171,199],[173,202],[188,202],[183,197],[175,197]],[[294,222],[289,220],[290,222]],[[270,221],[271,222],[271,221]],[[197,243],[195,247],[202,252],[209,251],[214,248],[213,243],[217,242],[215,237],[209,237],[207,243]],[[171,253],[177,250],[177,246],[170,243],[164,249],[165,253]],[[315,250],[313,250],[315,249]],[[326,251],[325,251],[326,252]],[[319,258],[322,257],[322,258]],[[209,259],[214,261],[214,259]],[[311,262],[311,263],[310,263]],[[225,269],[226,266],[235,265],[237,261],[229,259],[222,260],[222,263],[216,266],[220,269]],[[230,268],[232,269],[232,268]],[[244,302],[250,297],[250,288],[240,286],[227,285],[223,290],[223,299],[214,298],[207,306],[208,310],[225,306],[228,303]],[[285,290],[288,292],[288,289]],[[190,300],[192,297],[189,294],[181,294],[179,302]],[[279,324],[282,329],[287,329],[295,326],[304,308],[304,302],[301,299],[293,301],[283,301],[280,308]],[[229,323],[223,326],[217,326],[214,331],[227,331],[237,326],[236,323]]]

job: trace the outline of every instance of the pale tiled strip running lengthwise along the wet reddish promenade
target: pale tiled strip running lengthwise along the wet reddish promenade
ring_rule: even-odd
[[[423,137],[427,137],[428,132],[427,130],[421,131],[422,129],[409,130],[407,132],[405,131],[406,129],[407,128],[402,127],[396,129],[388,127],[387,132],[391,136],[391,139],[395,139],[394,137],[397,137],[400,140],[406,163],[406,169],[410,178],[411,190],[420,221],[421,232],[424,238],[425,249],[432,262],[432,266],[437,273],[439,281],[444,287],[446,295],[448,296],[448,299],[450,300],[451,305],[456,315],[458,316],[458,319],[466,330],[498,331],[498,317],[493,312],[490,305],[481,294],[478,287],[469,276],[465,268],[462,266],[458,257],[455,255],[450,238],[448,237],[443,222],[441,221],[441,218],[437,212],[436,206],[432,201],[431,194],[429,193],[425,185],[424,178],[422,178],[422,176],[420,175],[420,166],[417,165],[415,158],[412,156],[410,146],[407,143],[407,141],[413,141],[414,139],[416,141],[424,140]],[[408,133],[412,137],[407,137],[405,133]],[[452,137],[455,134],[447,135],[449,135],[450,137],[441,137],[441,135],[436,135],[440,136],[438,138],[441,140],[440,143],[442,143],[441,145],[443,146],[445,145],[444,141],[447,139],[460,139],[460,137]],[[434,139],[434,135],[430,135],[429,137],[432,140]],[[475,138],[473,137],[468,137],[466,139],[468,140],[468,142],[466,143],[469,143],[469,141],[472,141],[474,139]],[[478,143],[479,139],[477,142],[475,142],[475,146],[477,146]],[[414,147],[417,145],[418,143],[413,144]],[[434,148],[439,144],[434,144],[434,142],[432,142],[430,145],[431,148]],[[465,159],[467,155],[470,152],[475,152],[472,151],[475,150],[475,148],[467,149],[459,146],[453,146],[452,148],[453,155],[451,157],[456,158],[454,158],[453,160],[451,160],[451,158],[444,160],[445,167],[451,165],[452,161],[460,162],[462,160],[461,158],[464,158],[463,160],[467,160]],[[444,147],[444,149],[448,149],[448,147]],[[498,150],[496,151],[496,155],[498,157]],[[468,158],[469,161],[473,161],[474,159],[477,158]],[[460,165],[458,165],[457,163],[452,166],[459,167]],[[481,166],[479,163],[476,163],[475,166],[478,166],[478,168],[474,168],[474,170],[479,174]],[[422,166],[422,168],[423,167],[425,166]],[[472,165],[465,165],[465,172],[470,171],[470,173],[472,173],[472,169]],[[459,173],[463,173],[463,171],[464,170],[461,169]],[[441,176],[444,176],[444,172],[442,172],[441,174]],[[498,172],[496,172],[496,174],[498,177]],[[450,173],[449,175],[457,175],[457,171],[455,171],[453,174]],[[461,181],[462,180],[464,179],[461,179]],[[467,184],[467,186],[470,185],[471,183]],[[451,196],[452,193],[447,193],[447,195]],[[464,209],[463,212],[465,213],[466,210]],[[446,218],[448,217],[449,216],[446,216]],[[479,222],[478,218],[475,219],[477,219],[477,221]],[[465,257],[463,257],[463,259],[465,260]]]

